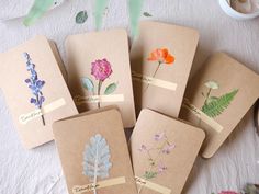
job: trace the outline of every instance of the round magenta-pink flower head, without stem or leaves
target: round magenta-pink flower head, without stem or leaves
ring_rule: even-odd
[[[99,81],[104,81],[112,73],[111,64],[104,58],[92,62],[91,75]]]

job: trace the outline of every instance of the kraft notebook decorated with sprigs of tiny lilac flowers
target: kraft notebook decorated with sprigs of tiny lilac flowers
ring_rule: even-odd
[[[204,138],[200,128],[143,110],[131,138],[138,193],[180,194]]]

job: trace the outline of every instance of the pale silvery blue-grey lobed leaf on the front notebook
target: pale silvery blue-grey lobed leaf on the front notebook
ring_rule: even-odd
[[[110,159],[106,140],[100,134],[91,137],[83,152],[83,174],[93,182],[93,185],[97,185],[98,178],[109,178],[109,170],[112,168]],[[97,193],[95,189],[93,192]]]

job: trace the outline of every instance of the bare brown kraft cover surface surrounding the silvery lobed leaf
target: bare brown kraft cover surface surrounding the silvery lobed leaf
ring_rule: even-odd
[[[83,151],[90,138],[102,135],[110,146],[112,168],[109,179],[125,176],[126,183],[99,189],[100,194],[136,193],[131,158],[127,149],[121,114],[112,107],[103,107],[82,113],[79,116],[54,123],[54,134],[57,144],[63,170],[66,176],[68,191],[72,194],[75,185],[87,185],[92,182],[82,174]],[[93,193],[92,191],[90,193]]]

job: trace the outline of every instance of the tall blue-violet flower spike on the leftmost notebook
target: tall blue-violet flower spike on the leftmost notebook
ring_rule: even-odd
[[[37,77],[37,72],[35,70],[35,65],[32,62],[32,59],[27,53],[23,54],[25,60],[26,60],[26,68],[27,71],[30,71],[31,77],[29,79],[25,79],[25,82],[29,84],[29,88],[31,89],[33,93],[33,98],[31,98],[30,103],[34,104],[37,109],[42,109],[43,102],[45,101],[45,98],[43,96],[42,88],[45,84],[45,81],[40,80]],[[45,118],[42,115],[43,125],[45,125]]]

